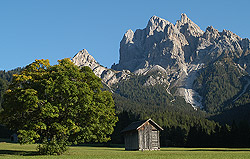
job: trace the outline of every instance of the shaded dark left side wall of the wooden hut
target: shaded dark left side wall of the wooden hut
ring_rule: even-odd
[[[138,132],[131,131],[125,134],[125,150],[138,150]]]

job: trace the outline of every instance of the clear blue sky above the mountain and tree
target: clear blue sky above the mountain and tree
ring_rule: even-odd
[[[208,26],[250,38],[249,0],[0,0],[0,70],[35,59],[72,58],[82,50],[108,68],[119,61],[128,29],[146,27],[153,15],[175,24],[181,13]]]

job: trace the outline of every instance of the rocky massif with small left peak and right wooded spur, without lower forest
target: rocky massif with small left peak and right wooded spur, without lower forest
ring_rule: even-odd
[[[181,14],[175,24],[153,16],[146,28],[128,30],[120,42],[119,63],[111,69],[86,50],[72,60],[90,66],[114,92],[119,93],[122,81],[138,76],[143,87],[162,85],[170,101],[181,96],[193,108],[216,114],[249,91],[249,50],[249,39],[212,26],[203,31]]]

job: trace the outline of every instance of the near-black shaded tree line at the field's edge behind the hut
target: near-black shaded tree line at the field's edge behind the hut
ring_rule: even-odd
[[[124,144],[124,138],[120,134],[121,130],[142,118],[131,111],[119,113],[118,118],[119,121],[110,143]],[[173,116],[169,118],[165,120],[178,120]],[[156,123],[161,123],[159,118],[153,117],[152,119]],[[250,147],[250,126],[247,121],[219,124],[205,119],[191,118],[188,121],[176,122],[176,124],[164,125],[161,123],[160,125],[164,129],[160,132],[162,147]]]

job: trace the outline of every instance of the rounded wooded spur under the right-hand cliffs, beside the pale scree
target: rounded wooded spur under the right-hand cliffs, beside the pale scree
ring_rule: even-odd
[[[203,96],[208,113],[218,113],[229,108],[246,84],[242,71],[231,58],[221,58],[200,70],[194,87]]]

